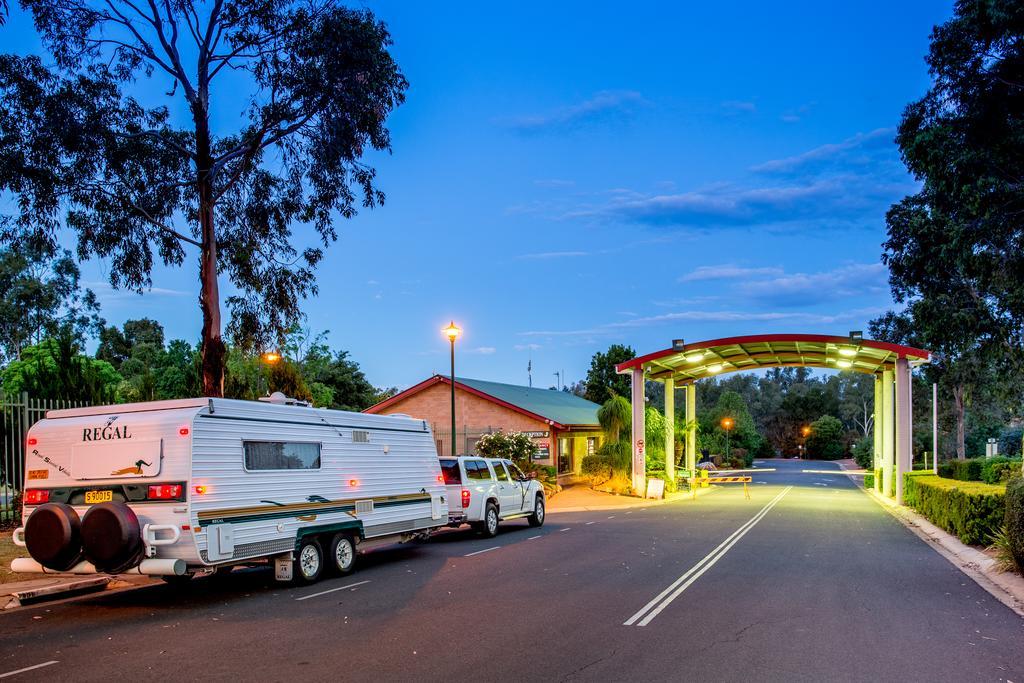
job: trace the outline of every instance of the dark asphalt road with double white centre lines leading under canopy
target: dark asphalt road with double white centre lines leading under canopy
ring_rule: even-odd
[[[263,570],[0,614],[0,679],[1024,681],[1024,620],[831,464],[445,531],[314,586]],[[47,664],[54,663],[54,664]]]

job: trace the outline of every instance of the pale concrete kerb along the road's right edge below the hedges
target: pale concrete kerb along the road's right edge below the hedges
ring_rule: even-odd
[[[1024,616],[1024,577],[999,571],[995,560],[985,553],[961,542],[959,539],[939,528],[910,508],[882,496],[873,488],[863,489],[914,536],[946,558],[950,564],[970,577],[992,597]]]

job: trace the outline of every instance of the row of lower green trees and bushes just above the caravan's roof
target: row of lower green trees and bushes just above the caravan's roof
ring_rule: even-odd
[[[83,289],[74,259],[0,251],[0,385],[6,393],[92,403],[202,396],[198,344],[167,340],[157,321],[108,326],[95,295]],[[393,394],[366,378],[327,333],[293,326],[280,359],[265,361],[228,340],[224,395],[255,399],[273,391],[314,405],[361,411]],[[97,343],[90,355],[90,340]]]

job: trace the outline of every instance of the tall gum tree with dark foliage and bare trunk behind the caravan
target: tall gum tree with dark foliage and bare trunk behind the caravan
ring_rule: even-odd
[[[53,251],[68,227],[79,257],[108,259],[112,285],[137,291],[157,259],[191,251],[204,393],[220,395],[218,275],[236,343],[280,339],[316,294],[336,217],[384,200],[361,158],[389,148],[407,88],[386,27],[333,0],[22,6],[54,67],[0,55],[0,190],[16,199],[0,237]],[[215,128],[224,111],[240,125]]]

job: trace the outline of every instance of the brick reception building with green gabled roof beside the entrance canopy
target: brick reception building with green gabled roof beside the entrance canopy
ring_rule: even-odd
[[[452,389],[447,377],[434,375],[367,413],[400,413],[426,420],[434,432],[437,453],[452,453]],[[472,454],[477,439],[493,431],[529,434],[539,452],[536,462],[558,468],[570,479],[580,472],[584,456],[601,442],[597,403],[555,389],[485,382],[457,377],[455,380],[456,449]]]

